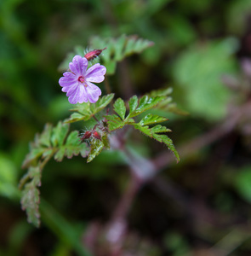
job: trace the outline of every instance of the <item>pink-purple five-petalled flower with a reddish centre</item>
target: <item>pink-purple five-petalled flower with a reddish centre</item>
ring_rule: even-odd
[[[101,95],[101,90],[94,83],[101,83],[104,81],[106,74],[106,67],[101,66],[100,63],[88,67],[88,60],[85,57],[76,55],[69,64],[71,72],[63,73],[59,83],[62,86],[62,91],[66,92],[68,101],[71,104],[83,102],[97,102]]]

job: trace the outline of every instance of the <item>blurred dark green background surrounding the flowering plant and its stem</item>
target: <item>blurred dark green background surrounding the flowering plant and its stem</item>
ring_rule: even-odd
[[[69,115],[58,84],[68,52],[94,36],[154,42],[108,79],[125,99],[132,95],[124,70],[138,96],[172,86],[174,102],[190,113],[168,116],[179,150],[248,102],[250,21],[249,0],[0,0],[0,255],[84,255],[76,237],[95,221],[106,224],[123,195],[128,166],[104,152],[89,164],[81,157],[48,163],[40,229],[20,209],[29,142],[46,122]],[[249,123],[181,155],[141,189],[128,215],[127,255],[251,255]],[[137,148],[146,157],[166,150],[147,143]]]

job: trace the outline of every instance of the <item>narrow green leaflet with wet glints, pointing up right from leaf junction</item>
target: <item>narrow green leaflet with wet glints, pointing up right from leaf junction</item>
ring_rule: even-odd
[[[159,102],[162,102],[165,99],[165,96],[143,96],[140,98],[139,106],[133,112],[128,114],[127,118],[134,117],[140,113],[145,112],[148,109],[154,108]]]

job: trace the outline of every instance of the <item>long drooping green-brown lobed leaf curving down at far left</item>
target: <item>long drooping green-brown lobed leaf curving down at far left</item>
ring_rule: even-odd
[[[34,143],[31,143],[31,152],[26,155],[23,163],[23,167],[28,168],[28,172],[20,180],[20,188],[25,186],[21,205],[22,209],[26,210],[28,222],[36,226],[40,224],[38,212],[40,199],[37,187],[41,185],[43,166],[53,155],[55,160],[60,161],[64,156],[71,158],[73,155],[81,154],[86,157],[88,154],[88,146],[79,141],[78,131],[71,131],[68,135],[69,126],[62,122],[54,128],[52,125],[45,125],[43,132],[35,136]]]

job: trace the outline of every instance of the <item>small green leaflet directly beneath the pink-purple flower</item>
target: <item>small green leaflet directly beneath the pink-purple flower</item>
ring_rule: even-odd
[[[88,119],[91,119],[94,114],[106,108],[113,97],[114,94],[111,93],[100,97],[99,100],[95,103],[83,102],[82,104],[77,104],[75,108],[71,108],[71,111],[74,111],[75,113],[72,113],[71,117],[65,120],[65,123],[74,123],[81,120],[87,121]]]

